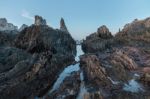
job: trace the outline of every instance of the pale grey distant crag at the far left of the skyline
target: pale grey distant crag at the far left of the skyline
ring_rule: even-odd
[[[17,31],[18,27],[8,23],[5,18],[0,18],[0,31]]]

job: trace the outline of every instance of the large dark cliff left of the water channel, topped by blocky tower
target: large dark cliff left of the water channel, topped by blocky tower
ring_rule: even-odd
[[[35,17],[35,24],[24,28],[8,43],[5,42],[8,36],[1,40],[1,99],[43,96],[76,55],[76,43],[71,35],[48,27],[40,16]]]

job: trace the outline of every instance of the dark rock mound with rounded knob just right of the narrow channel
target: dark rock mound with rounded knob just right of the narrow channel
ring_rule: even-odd
[[[96,33],[93,33],[86,37],[86,40],[82,43],[82,49],[84,52],[102,51],[111,48],[113,45],[113,36],[109,32],[106,26],[98,28]]]

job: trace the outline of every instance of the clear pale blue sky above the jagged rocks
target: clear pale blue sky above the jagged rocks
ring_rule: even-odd
[[[150,17],[150,0],[0,0],[0,18],[21,26],[40,15],[53,28],[61,17],[75,39],[83,39],[106,25],[112,34],[134,19]]]

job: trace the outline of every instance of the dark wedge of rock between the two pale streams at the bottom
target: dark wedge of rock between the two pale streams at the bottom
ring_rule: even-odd
[[[76,99],[80,83],[80,72],[73,72],[63,81],[59,89],[45,96],[45,99]]]

